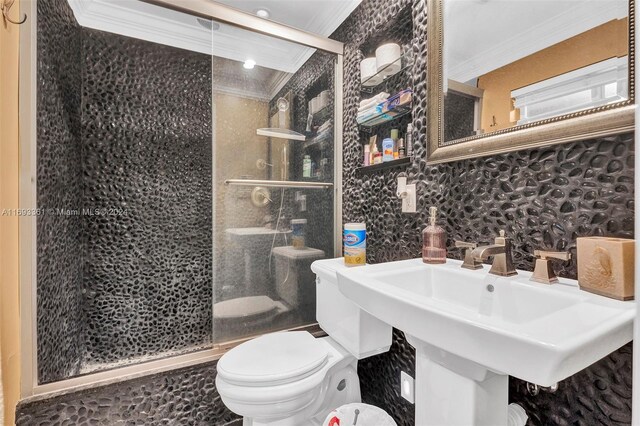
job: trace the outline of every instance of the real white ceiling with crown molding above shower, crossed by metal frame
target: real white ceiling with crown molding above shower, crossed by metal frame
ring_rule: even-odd
[[[361,0],[224,0],[250,13],[271,12],[272,20],[329,36]],[[251,31],[219,24],[214,31],[196,17],[140,0],[68,0],[79,24],[287,73],[297,71],[314,49]]]

